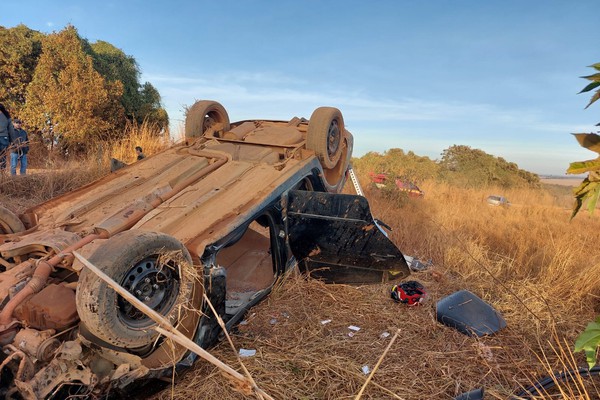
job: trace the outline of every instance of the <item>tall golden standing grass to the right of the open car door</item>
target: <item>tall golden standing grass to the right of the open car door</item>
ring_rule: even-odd
[[[442,293],[466,287],[497,307],[509,325],[520,325],[522,345],[541,357],[536,364],[542,371],[585,366],[569,343],[572,348],[600,312],[600,215],[581,212],[570,220],[570,204],[545,190],[461,189],[437,182],[422,188],[425,198],[401,209],[370,192],[374,212],[394,227],[392,240],[405,254],[431,259],[453,277]],[[490,194],[503,194],[512,205],[490,206]],[[600,398],[600,391],[590,395],[574,385],[562,386],[570,393],[562,398]]]

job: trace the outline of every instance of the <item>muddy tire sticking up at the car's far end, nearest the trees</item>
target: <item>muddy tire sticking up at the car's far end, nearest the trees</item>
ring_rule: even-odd
[[[228,132],[229,127],[229,115],[225,107],[212,100],[197,101],[185,117],[186,138],[201,137],[207,133],[219,137],[219,132]]]

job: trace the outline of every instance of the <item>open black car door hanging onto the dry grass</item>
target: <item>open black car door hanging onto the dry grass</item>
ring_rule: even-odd
[[[290,190],[287,229],[301,269],[331,283],[379,283],[410,274],[363,196]]]

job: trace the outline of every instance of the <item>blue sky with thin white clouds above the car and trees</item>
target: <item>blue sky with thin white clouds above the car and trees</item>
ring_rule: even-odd
[[[439,159],[482,149],[540,174],[592,159],[580,77],[600,62],[597,1],[12,1],[0,25],[74,25],[132,55],[172,129],[195,100],[232,121],[342,110],[355,156],[390,148]]]

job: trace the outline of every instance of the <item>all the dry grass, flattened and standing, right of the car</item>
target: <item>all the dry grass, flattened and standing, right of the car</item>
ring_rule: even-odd
[[[378,193],[367,196],[405,254],[433,261],[411,277],[425,285],[429,301],[409,308],[391,301],[385,284],[287,278],[233,334],[238,348],[257,350],[244,363],[260,388],[276,399],[354,398],[367,378],[362,367],[373,368],[397,329],[362,398],[451,399],[485,387],[486,398],[506,399],[551,371],[585,365],[569,349],[598,311],[598,215],[569,222],[553,196],[531,190],[502,192],[514,203],[505,209],[487,205],[489,191],[422,188],[425,198],[401,209]],[[477,339],[437,323],[435,303],[460,289],[492,304],[508,327]],[[350,337],[349,325],[361,330]],[[211,352],[236,365],[228,344]],[[156,398],[199,394],[244,398],[202,361]],[[600,391],[579,382],[536,398],[600,398]]]

